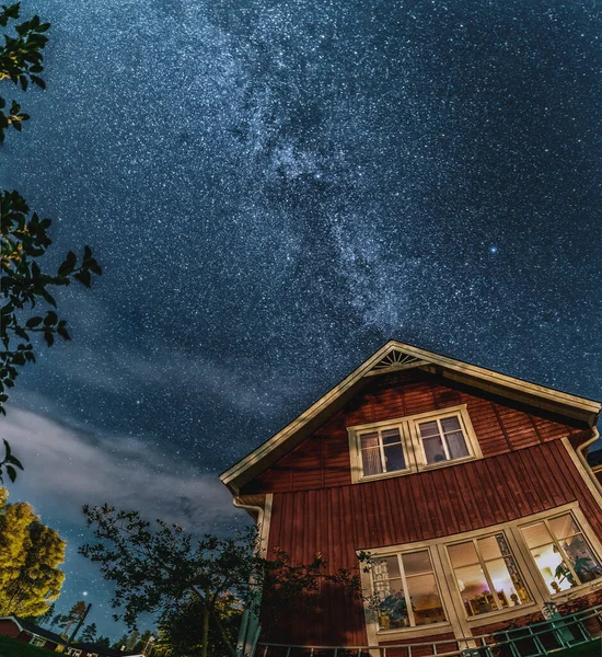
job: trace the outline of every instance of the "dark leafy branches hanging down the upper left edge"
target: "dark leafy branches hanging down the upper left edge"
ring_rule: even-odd
[[[20,3],[2,5],[0,26],[8,28],[11,21],[19,20]],[[4,34],[4,44],[0,46],[0,81],[12,82],[25,91],[32,82],[44,88],[43,54],[48,37],[44,34],[49,23],[43,23],[35,15],[14,25],[14,35]],[[23,122],[30,116],[21,111],[16,101],[8,102],[0,96],[0,142],[9,127],[22,130]],[[39,334],[48,346],[57,336],[69,339],[67,321],[60,319],[57,302],[50,289],[53,286],[66,286],[77,280],[90,287],[92,275],[102,273],[92,256],[89,246],[83,255],[69,251],[56,274],[44,272],[40,258],[46,254],[53,241],[49,238],[50,219],[40,219],[36,212],[30,212],[25,199],[18,192],[0,192],[0,413],[5,414],[4,403],[8,389],[14,385],[20,367],[35,361],[32,336]],[[43,301],[47,308],[40,314],[33,314],[34,308]],[[49,307],[49,308],[48,308]],[[21,462],[11,453],[4,441],[5,453],[0,461],[0,483],[5,473],[11,482],[16,470],[23,469]]]

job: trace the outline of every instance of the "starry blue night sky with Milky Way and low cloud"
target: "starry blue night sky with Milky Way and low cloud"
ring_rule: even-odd
[[[121,631],[81,504],[242,526],[217,474],[389,338],[602,399],[601,7],[24,1],[48,89],[0,182],[104,268],[2,420],[63,611]]]

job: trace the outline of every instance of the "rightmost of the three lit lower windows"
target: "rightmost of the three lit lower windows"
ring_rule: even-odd
[[[602,577],[600,560],[572,514],[521,527],[521,532],[551,593]]]

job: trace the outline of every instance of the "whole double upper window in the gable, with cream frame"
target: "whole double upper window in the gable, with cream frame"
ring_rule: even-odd
[[[482,458],[465,404],[347,430],[354,483]]]

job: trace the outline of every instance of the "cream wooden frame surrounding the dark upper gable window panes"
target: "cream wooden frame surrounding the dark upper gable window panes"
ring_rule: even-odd
[[[448,417],[456,417],[468,454],[460,459],[448,459],[445,461],[439,461],[437,463],[427,463],[426,452],[422,446],[422,439],[420,438],[420,431],[418,425],[425,422],[431,422],[433,419],[445,419]],[[380,435],[386,429],[398,429],[401,436],[401,443],[404,451],[404,458],[406,468],[404,470],[393,470],[392,472],[381,472],[378,474],[363,474],[363,462],[361,456],[361,436],[369,433],[379,433],[379,446],[381,447],[381,459],[382,456],[382,438]],[[414,472],[421,472],[424,470],[435,470],[437,468],[448,468],[450,465],[456,465],[458,463],[464,463],[466,461],[473,461],[475,459],[482,459],[483,452],[478,445],[476,434],[474,431],[471,418],[468,416],[468,410],[466,404],[459,406],[450,406],[447,408],[438,408],[436,411],[428,411],[426,413],[418,413],[416,415],[407,415],[395,419],[387,419],[382,422],[374,422],[364,425],[357,425],[347,427],[347,434],[349,436],[349,454],[351,461],[351,482],[358,484],[361,482],[371,482],[380,479],[387,479],[391,476],[403,476],[412,474]],[[445,454],[448,448],[444,445]],[[384,459],[383,459],[384,462]]]

